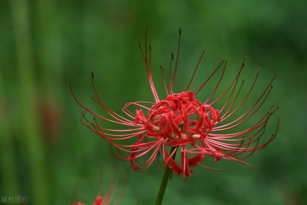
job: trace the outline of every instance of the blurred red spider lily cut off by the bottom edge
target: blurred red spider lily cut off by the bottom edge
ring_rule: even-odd
[[[116,170],[116,169],[115,169]],[[102,176],[102,172],[100,175],[100,183],[99,183],[99,191],[98,191],[98,195],[95,199],[95,202],[93,203],[93,205],[109,205],[111,203],[112,198],[114,197],[116,190],[119,186],[119,182],[120,182],[120,178],[121,178],[121,173],[119,173],[117,179],[115,180],[115,175],[116,175],[116,171],[113,171],[110,183],[108,185],[107,188],[107,192],[105,193],[104,197],[100,196],[101,193],[101,188],[102,188],[102,181],[103,181],[103,176]],[[124,182],[124,186],[122,187],[121,192],[119,193],[116,201],[113,203],[113,205],[117,205],[119,203],[119,200],[122,198],[122,195],[124,194],[125,188],[127,186],[128,183],[128,175],[126,176],[125,182]],[[113,187],[114,185],[114,187]],[[112,189],[113,187],[113,189]],[[72,199],[72,201],[75,201],[75,199]],[[78,203],[72,203],[72,205],[85,205],[84,203],[78,202]]]

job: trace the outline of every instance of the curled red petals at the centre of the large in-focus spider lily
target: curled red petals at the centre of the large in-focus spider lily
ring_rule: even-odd
[[[143,124],[147,133],[140,136],[137,143],[133,144],[133,151],[152,147],[151,143],[143,143],[142,141],[145,137],[154,138],[154,142],[158,142],[157,147],[162,146],[165,161],[177,175],[181,172],[184,175],[192,175],[192,170],[188,168],[188,165],[194,167],[204,159],[205,153],[188,158],[186,155],[187,144],[191,144],[195,148],[201,148],[208,155],[219,157],[219,155],[214,154],[216,150],[212,151],[212,148],[206,146],[204,139],[212,131],[216,123],[220,122],[220,112],[214,110],[211,105],[201,104],[194,97],[195,95],[191,91],[169,95],[165,100],[159,101],[152,106],[148,117],[144,116],[142,109],[136,110],[133,125]],[[189,119],[191,115],[195,115],[197,120]],[[200,141],[200,147],[196,145],[196,141]],[[182,168],[170,158],[164,148],[165,145],[176,148],[181,146]],[[133,163],[134,158],[135,152],[131,152],[130,161],[133,164],[133,168],[140,169]]]

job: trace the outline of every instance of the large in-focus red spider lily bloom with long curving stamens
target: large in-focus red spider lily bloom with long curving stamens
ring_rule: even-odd
[[[115,155],[116,158],[120,160],[129,160],[134,170],[144,171],[150,166],[150,164],[152,164],[156,156],[161,151],[163,156],[163,162],[161,164],[163,164],[164,166],[166,166],[167,164],[176,175],[180,175],[180,173],[182,173],[185,179],[185,175],[190,176],[193,173],[193,171],[189,167],[195,167],[197,165],[206,167],[200,164],[203,161],[205,155],[214,157],[215,161],[220,161],[220,159],[223,158],[226,160],[238,161],[242,164],[247,164],[242,160],[249,157],[254,151],[264,148],[275,138],[278,130],[278,125],[276,132],[272,134],[272,136],[266,143],[261,145],[258,143],[259,139],[263,136],[268,119],[276,111],[276,109],[272,111],[273,106],[251,128],[245,129],[241,132],[233,132],[232,128],[242,124],[243,122],[251,118],[251,116],[253,116],[255,112],[262,106],[263,102],[266,100],[272,89],[271,83],[276,75],[268,84],[259,99],[255,102],[254,105],[251,106],[250,109],[244,112],[239,118],[231,121],[230,123],[223,124],[223,121],[228,119],[233,113],[235,113],[251,93],[251,90],[254,87],[255,81],[258,77],[259,70],[257,71],[257,75],[253,85],[251,86],[251,89],[238,106],[234,106],[234,104],[237,100],[237,96],[241,90],[244,80],[239,88],[239,91],[237,91],[237,94],[235,95],[234,93],[235,88],[238,87],[238,80],[241,70],[244,67],[245,58],[243,60],[239,73],[237,74],[231,85],[215,101],[208,103],[208,101],[212,98],[213,94],[216,92],[217,87],[220,85],[221,79],[226,68],[226,60],[225,65],[223,66],[224,68],[222,75],[220,77],[220,80],[217,82],[214,92],[208,98],[207,101],[201,103],[200,101],[195,99],[195,96],[208,82],[212,75],[224,63],[223,61],[216,68],[212,75],[209,76],[208,80],[205,81],[204,84],[201,85],[201,87],[195,93],[193,93],[192,91],[188,91],[192,79],[195,75],[196,69],[201,60],[201,57],[204,54],[203,52],[186,91],[181,93],[174,93],[173,84],[177,71],[177,62],[179,56],[181,35],[180,30],[179,46],[173,80],[171,80],[171,65],[172,61],[174,60],[173,53],[170,63],[169,91],[167,89],[165,78],[163,76],[163,68],[161,67],[164,86],[168,96],[164,100],[160,101],[155,86],[153,84],[151,57],[147,57],[147,29],[145,37],[145,54],[142,51],[140,43],[139,47],[146,62],[149,83],[155,102],[138,101],[127,103],[122,109],[122,111],[126,114],[126,117],[122,117],[102,104],[95,91],[95,86],[93,82],[94,75],[93,73],[91,73],[93,88],[97,100],[93,97],[92,99],[103,107],[103,109],[111,117],[109,119],[104,116],[99,116],[98,114],[95,114],[89,108],[85,108],[77,101],[74,93],[72,92],[77,103],[86,110],[82,114],[81,123],[87,128],[99,134],[103,139],[114,145],[118,149],[120,154],[120,156]],[[149,50],[149,55],[151,56],[151,45],[149,46]],[[220,101],[223,96],[227,95],[229,95],[229,97],[221,108],[216,109],[213,107],[217,101]],[[231,100],[231,97],[234,97],[234,100]],[[136,109],[136,112],[131,112],[130,110],[128,110],[130,106],[137,106],[138,109]],[[226,106],[229,108],[226,109]],[[252,110],[253,108],[255,109],[255,111]],[[233,110],[231,111],[231,109]],[[144,111],[146,112],[144,113]],[[87,118],[85,117],[86,112],[89,112],[94,115],[95,122],[90,122],[89,120],[87,120]],[[122,130],[103,128],[98,125],[98,122],[95,117],[116,124],[126,125],[130,128]],[[227,131],[229,133],[221,134],[221,131]],[[134,144],[126,145],[118,143],[131,138],[135,139],[136,142]],[[172,148],[170,153],[167,152],[168,147]],[[173,159],[177,150],[180,150],[181,154],[181,163],[179,164]],[[128,153],[129,156],[126,156],[123,152]],[[149,153],[150,157],[148,158],[148,160],[143,163],[138,162],[140,157],[145,155],[147,156]],[[243,153],[248,154],[240,156]],[[141,169],[136,163],[138,163],[138,165],[144,168]]]

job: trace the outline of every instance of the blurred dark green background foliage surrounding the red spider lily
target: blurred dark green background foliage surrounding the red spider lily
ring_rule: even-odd
[[[126,102],[154,101],[137,43],[145,47],[149,24],[153,79],[160,99],[166,95],[159,65],[168,68],[171,53],[177,52],[180,27],[175,92],[185,91],[202,48],[205,54],[190,88],[194,92],[228,59],[219,92],[224,91],[247,56],[242,100],[260,69],[240,113],[253,105],[277,73],[258,116],[270,104],[279,109],[260,142],[275,131],[278,116],[279,131],[265,149],[245,160],[257,167],[207,157],[202,164],[223,170],[199,166],[186,182],[182,175],[174,175],[164,204],[307,204],[306,8],[303,0],[2,0],[0,196],[20,194],[27,197],[27,204],[70,204],[77,182],[76,198],[91,204],[100,168],[105,172],[105,191],[115,164],[129,167],[129,162],[111,156],[104,140],[80,124],[82,109],[72,97],[69,79],[78,100],[97,113],[103,112],[89,97],[94,95],[91,72],[103,104],[117,113]],[[219,77],[216,74],[198,94],[200,101],[210,96]],[[119,204],[135,200],[153,204],[163,172],[156,163],[141,173],[131,171]]]

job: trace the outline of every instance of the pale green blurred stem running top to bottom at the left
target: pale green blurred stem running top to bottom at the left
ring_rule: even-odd
[[[19,119],[12,122],[18,127],[18,141],[24,144],[26,158],[29,164],[30,184],[27,188],[33,193],[28,198],[29,204],[45,204],[50,202],[47,180],[48,169],[45,160],[44,144],[42,142],[41,126],[37,110],[37,92],[34,78],[33,47],[30,35],[28,1],[10,1],[11,15],[14,29],[14,41],[16,44],[17,73],[19,78],[17,85]],[[19,131],[19,132],[18,132]],[[15,195],[12,193],[11,195]],[[21,193],[22,194],[22,193]]]

